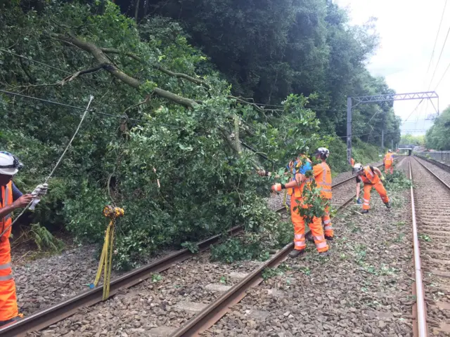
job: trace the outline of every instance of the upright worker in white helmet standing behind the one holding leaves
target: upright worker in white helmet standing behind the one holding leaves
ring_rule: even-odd
[[[326,159],[330,156],[330,151],[326,147],[319,147],[319,149],[314,152],[314,157],[316,159],[321,159],[320,164],[314,165],[313,174],[316,180],[317,187],[321,188],[321,195],[325,199],[331,200],[331,170],[330,166],[326,164]],[[319,223],[322,225],[323,221],[323,233],[327,240],[333,240],[334,232],[333,226],[331,225],[330,218],[330,206],[325,209],[325,216],[319,219]]]

